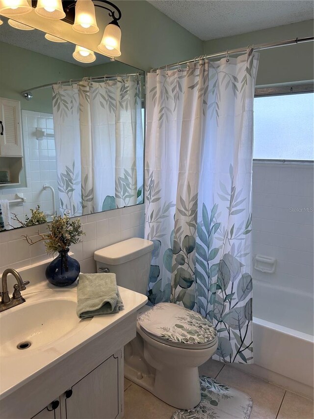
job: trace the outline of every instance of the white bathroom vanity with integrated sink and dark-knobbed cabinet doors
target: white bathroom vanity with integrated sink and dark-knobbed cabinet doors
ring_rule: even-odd
[[[136,335],[136,310],[147,297],[119,291],[120,312],[79,320],[75,285],[37,279],[24,291],[25,303],[0,313],[2,419],[122,418],[123,347]],[[31,345],[19,350],[23,341]]]

